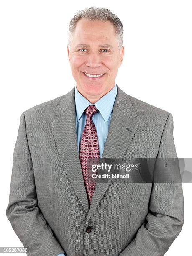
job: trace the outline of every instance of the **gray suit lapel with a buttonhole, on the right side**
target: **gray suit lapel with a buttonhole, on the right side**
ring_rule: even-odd
[[[138,128],[138,125],[131,120],[132,118],[136,117],[137,114],[128,95],[120,90],[118,86],[117,88],[117,96],[113,106],[110,128],[108,131],[107,140],[105,142],[102,159],[123,158],[125,151],[131,143],[131,140],[133,139],[133,136]],[[105,194],[105,191],[107,190],[111,181],[112,178],[108,179],[108,181],[105,183],[96,183],[90,210],[87,216],[87,222]]]

